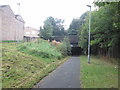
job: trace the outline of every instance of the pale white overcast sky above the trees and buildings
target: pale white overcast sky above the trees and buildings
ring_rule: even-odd
[[[25,21],[25,26],[39,29],[47,17],[65,20],[67,29],[73,18],[79,18],[89,11],[86,5],[92,5],[94,0],[0,0],[0,5],[10,5],[14,14],[19,14]],[[20,9],[19,5],[20,3]],[[94,5],[92,5],[92,9]]]

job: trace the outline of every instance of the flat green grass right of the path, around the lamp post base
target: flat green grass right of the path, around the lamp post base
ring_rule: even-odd
[[[82,88],[118,88],[118,65],[101,58],[80,56],[80,78]]]

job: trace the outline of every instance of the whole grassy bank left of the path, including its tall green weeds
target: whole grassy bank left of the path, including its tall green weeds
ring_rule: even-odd
[[[48,46],[49,43],[45,41],[41,43],[3,43],[3,88],[32,88],[40,79],[67,60],[62,58],[55,47]],[[46,44],[47,50],[44,46]]]

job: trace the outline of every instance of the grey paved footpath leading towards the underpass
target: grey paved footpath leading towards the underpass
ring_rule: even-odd
[[[80,58],[71,57],[43,78],[36,88],[80,88]]]

